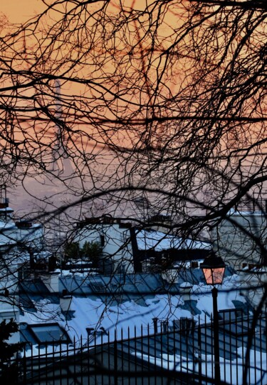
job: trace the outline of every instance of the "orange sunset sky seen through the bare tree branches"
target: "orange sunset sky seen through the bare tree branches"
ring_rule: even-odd
[[[123,167],[130,164],[128,159],[131,162],[134,159],[138,166],[138,178],[143,180],[141,176],[146,173],[151,181],[154,176],[144,171],[147,164],[150,165],[150,162],[145,163],[148,154],[155,161],[155,169],[162,164],[162,178],[159,178],[162,184],[163,181],[164,186],[171,183],[175,189],[176,181],[182,179],[190,181],[190,191],[201,189],[206,181],[202,178],[199,181],[198,167],[201,168],[202,163],[206,167],[205,161],[211,164],[209,172],[214,181],[214,159],[217,169],[222,169],[220,172],[227,174],[231,171],[234,174],[232,167],[238,170],[239,175],[236,153],[243,149],[250,151],[249,156],[252,156],[248,162],[249,172],[252,173],[254,163],[258,167],[259,161],[251,159],[254,159],[255,153],[258,154],[259,148],[265,151],[265,126],[253,125],[249,120],[246,124],[239,124],[235,119],[241,115],[240,119],[243,119],[243,114],[250,118],[251,106],[253,119],[263,116],[264,90],[257,82],[248,84],[247,76],[249,74],[251,79],[259,81],[264,79],[265,36],[262,28],[265,21],[262,21],[261,27],[256,14],[254,19],[241,16],[239,29],[233,31],[231,23],[239,21],[227,7],[223,11],[214,8],[214,14],[205,13],[204,8],[203,15],[196,11],[192,16],[194,7],[192,9],[191,3],[184,0],[123,0],[121,3],[120,0],[110,0],[93,2],[93,6],[89,3],[58,1],[58,6],[36,22],[34,28],[27,28],[26,32],[18,29],[14,49],[11,50],[12,55],[14,53],[13,67],[7,67],[10,76],[8,72],[3,84],[4,81],[19,84],[18,88],[12,88],[13,84],[11,86],[12,106],[16,107],[18,121],[16,134],[20,140],[19,149],[25,156],[20,156],[19,160],[28,159],[19,136],[23,135],[34,154],[34,161],[36,152],[43,159],[43,149],[41,152],[37,149],[45,144],[45,161],[47,167],[51,166],[51,149],[58,135],[63,137],[69,154],[75,157],[78,174],[81,169],[83,177],[91,176],[91,169],[95,167],[94,176],[105,184],[105,189],[110,181],[110,174],[106,171],[106,164],[110,163],[110,153],[105,150],[107,144],[109,149],[115,149],[112,159],[117,162],[119,144]],[[104,3],[108,6],[103,11],[101,6]],[[164,11],[162,3],[165,4]],[[148,5],[144,11],[145,4]],[[68,11],[67,17],[63,17],[64,7]],[[1,14],[19,26],[45,9],[42,0],[2,0],[0,6]],[[242,14],[241,10],[237,13]],[[218,29],[218,23],[224,28]],[[249,41],[247,30],[251,31]],[[9,29],[7,31],[9,39]],[[25,71],[28,68],[31,69],[29,73]],[[19,71],[19,76],[16,71]],[[57,78],[60,79],[61,93],[55,92],[54,80]],[[34,80],[33,85],[30,81],[28,86],[31,79]],[[26,85],[25,89],[20,84]],[[9,101],[8,94],[4,97]],[[56,101],[58,99],[59,102]],[[28,109],[31,103],[34,108]],[[66,124],[64,135],[51,119],[58,105],[62,106],[61,120]],[[219,119],[215,119],[216,116]],[[232,116],[233,121],[229,120]],[[3,121],[6,122],[4,109]],[[50,146],[47,146],[47,141]],[[58,142],[56,144],[58,146]],[[29,151],[28,148],[26,150]],[[13,148],[10,148],[11,161],[12,151]],[[226,159],[230,151],[234,156],[229,158],[229,171],[224,163],[221,164],[221,159]],[[181,159],[179,167],[177,159]],[[197,182],[195,176],[192,177],[187,159]],[[201,162],[195,166],[192,159],[200,159]],[[205,161],[202,162],[202,159]],[[105,169],[105,178],[99,168],[101,171]],[[150,171],[150,166],[148,169]],[[155,169],[151,167],[153,172]],[[166,172],[169,169],[172,173]],[[38,173],[43,174],[42,170],[38,169]],[[207,180],[211,177],[209,172],[205,169]],[[248,173],[242,172],[245,176]],[[120,181],[117,175],[121,171],[117,171],[117,163],[110,173],[114,175],[114,183]],[[128,183],[128,179],[131,183],[132,180],[140,180],[134,172],[132,174],[129,179],[126,173],[127,180],[123,180],[123,184]],[[220,174],[217,179],[218,189],[221,190]],[[187,186],[183,188],[189,190]],[[35,191],[32,196],[36,196]]]

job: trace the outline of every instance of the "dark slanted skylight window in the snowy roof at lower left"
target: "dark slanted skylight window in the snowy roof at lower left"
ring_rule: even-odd
[[[41,344],[43,342],[70,342],[70,338],[65,330],[58,324],[42,324],[29,326],[31,332]]]

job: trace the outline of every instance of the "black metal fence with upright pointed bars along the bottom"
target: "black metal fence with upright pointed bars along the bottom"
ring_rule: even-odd
[[[219,315],[221,383],[266,385],[266,311],[256,327],[253,315],[242,310]],[[89,334],[86,341],[68,345],[25,346],[16,359],[17,383],[215,384],[212,329],[212,323],[196,319],[162,324],[155,319],[153,329]]]

